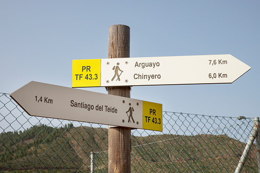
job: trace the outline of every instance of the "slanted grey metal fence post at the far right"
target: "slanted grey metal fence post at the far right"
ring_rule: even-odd
[[[242,154],[242,156],[241,156],[241,158],[239,160],[239,164],[238,164],[237,168],[234,171],[235,173],[240,173],[242,171],[242,169],[243,169],[243,167],[244,167],[244,165],[246,163],[247,157],[248,157],[248,155],[250,153],[250,150],[251,150],[251,147],[253,145],[254,139],[257,136],[257,133],[259,131],[259,126],[255,125],[255,122],[257,121],[256,120],[257,118],[258,117],[254,118],[254,128],[253,128],[253,131],[252,131],[251,136],[250,136],[250,138],[249,138],[249,140],[248,140],[248,142],[246,144],[244,152],[243,152],[243,154]],[[258,119],[258,122],[259,122],[259,119]]]

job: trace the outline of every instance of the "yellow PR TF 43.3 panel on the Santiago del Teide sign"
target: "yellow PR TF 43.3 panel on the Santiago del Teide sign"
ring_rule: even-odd
[[[143,129],[162,132],[162,104],[143,101]]]

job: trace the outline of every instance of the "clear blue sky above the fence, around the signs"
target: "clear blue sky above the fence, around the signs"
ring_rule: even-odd
[[[108,57],[108,28],[130,27],[130,57],[231,54],[232,84],[132,87],[163,111],[260,116],[259,1],[0,0],[0,92],[30,81],[72,86],[72,60]],[[105,88],[81,88],[107,93]]]

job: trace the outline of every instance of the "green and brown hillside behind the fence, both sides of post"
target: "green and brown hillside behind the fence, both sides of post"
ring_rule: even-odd
[[[226,135],[150,135],[131,139],[134,172],[233,172],[245,146]],[[251,170],[256,162],[254,148],[246,164]],[[95,172],[107,172],[107,129],[71,124],[64,128],[34,126],[23,132],[0,134],[0,169],[89,172],[91,151],[97,152]]]

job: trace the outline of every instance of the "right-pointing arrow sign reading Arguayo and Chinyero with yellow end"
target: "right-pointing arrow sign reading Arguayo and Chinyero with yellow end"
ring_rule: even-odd
[[[73,60],[72,87],[232,83],[249,69],[232,55]]]

